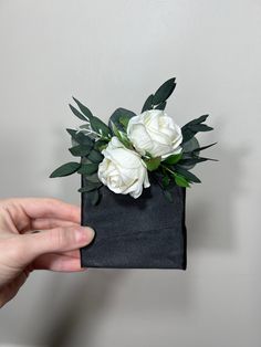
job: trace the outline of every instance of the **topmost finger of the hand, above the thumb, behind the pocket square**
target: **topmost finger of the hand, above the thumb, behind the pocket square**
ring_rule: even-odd
[[[9,200],[7,200],[7,203]],[[76,206],[52,198],[15,198],[10,204],[20,207],[30,219],[54,218],[75,223],[81,222],[81,209]],[[12,210],[12,209],[10,209]]]

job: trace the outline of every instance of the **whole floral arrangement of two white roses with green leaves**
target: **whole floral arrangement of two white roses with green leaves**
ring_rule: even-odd
[[[73,97],[79,109],[72,105],[70,108],[83,125],[66,129],[72,138],[69,150],[81,160],[62,165],[50,177],[74,172],[85,176],[87,183],[79,191],[86,192],[92,204],[98,203],[103,185],[115,193],[137,199],[154,180],[171,201],[170,189],[175,185],[188,188],[200,183],[190,170],[198,162],[216,160],[200,156],[216,143],[200,147],[196,135],[213,128],[203,124],[208,115],[181,128],[167,115],[165,107],[175,87],[175,78],[166,81],[148,96],[140,114],[117,108],[108,125]]]

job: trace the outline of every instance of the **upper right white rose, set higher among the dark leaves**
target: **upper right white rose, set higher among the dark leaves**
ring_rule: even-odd
[[[145,111],[129,119],[127,136],[135,149],[140,154],[149,153],[153,157],[163,158],[181,151],[182,134],[161,109]]]

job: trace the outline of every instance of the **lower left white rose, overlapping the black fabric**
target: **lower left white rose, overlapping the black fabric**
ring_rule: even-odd
[[[143,187],[149,187],[148,174],[140,156],[124,147],[117,137],[113,137],[103,149],[103,161],[98,165],[98,178],[112,191],[138,198]]]

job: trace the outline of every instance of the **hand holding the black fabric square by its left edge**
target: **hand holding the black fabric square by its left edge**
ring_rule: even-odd
[[[94,231],[80,222],[80,208],[56,199],[0,200],[0,307],[33,270],[83,271],[79,249]]]

